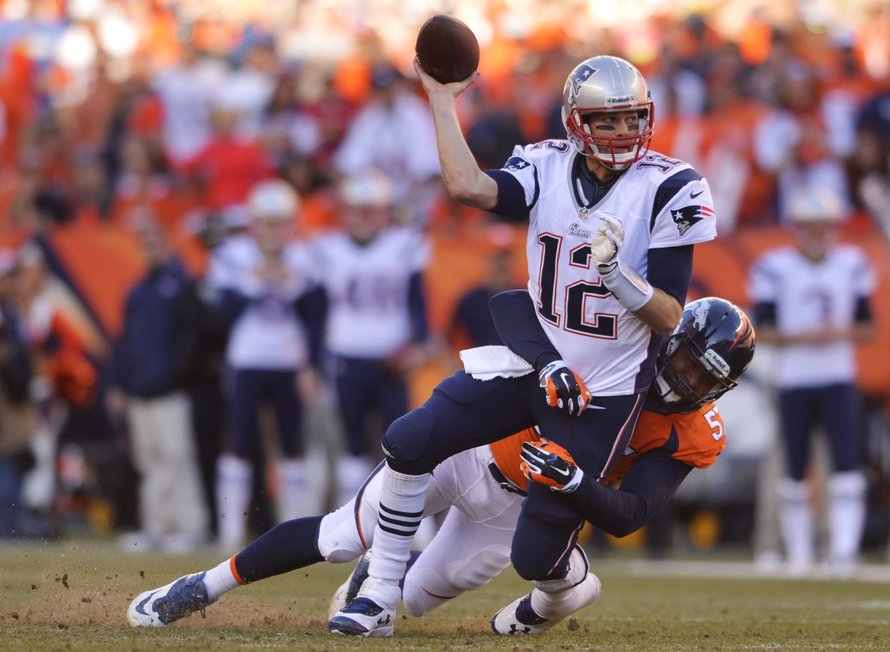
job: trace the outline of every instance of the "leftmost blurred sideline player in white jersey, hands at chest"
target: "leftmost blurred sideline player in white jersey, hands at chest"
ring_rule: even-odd
[[[289,241],[296,211],[297,195],[288,183],[258,183],[249,196],[249,233],[221,244],[208,269],[208,287],[220,295],[219,312],[225,322],[232,323],[225,351],[231,372],[231,436],[216,465],[223,550],[237,550],[246,532],[244,514],[253,486],[262,402],[274,403],[285,456],[279,465],[282,520],[306,515],[296,375],[314,375],[309,367],[310,348],[317,351],[319,346],[307,343],[306,311],[298,315],[299,302],[312,296],[313,285],[305,247]]]

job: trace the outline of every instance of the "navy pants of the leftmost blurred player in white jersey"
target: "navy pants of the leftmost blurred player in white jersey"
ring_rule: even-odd
[[[272,403],[282,451],[288,457],[302,455],[302,409],[297,397],[296,372],[238,369],[233,371],[232,384],[229,398],[231,452],[245,460],[254,458],[259,447],[259,406],[262,403]]]

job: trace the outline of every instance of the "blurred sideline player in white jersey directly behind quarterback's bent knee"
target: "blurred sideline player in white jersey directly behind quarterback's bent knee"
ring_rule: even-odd
[[[314,241],[313,268],[327,297],[324,347],[347,434],[337,467],[343,505],[373,469],[368,413],[379,411],[386,431],[408,412],[404,375],[426,358],[421,273],[429,243],[417,229],[391,224],[393,188],[380,170],[347,177],[339,190],[346,230]]]

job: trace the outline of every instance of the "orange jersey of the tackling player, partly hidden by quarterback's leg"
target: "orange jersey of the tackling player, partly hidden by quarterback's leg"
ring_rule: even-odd
[[[519,463],[522,461],[519,452],[523,442],[536,442],[540,439],[535,428],[528,428],[491,444],[498,469],[523,491],[528,488],[528,480],[519,471]],[[698,412],[689,414],[658,414],[644,410],[633,431],[631,443],[615,469],[612,469],[608,482],[625,477],[643,453],[662,447],[675,460],[681,460],[696,469],[706,469],[714,464],[717,455],[726,447],[723,419],[717,412],[716,405],[705,405]]]

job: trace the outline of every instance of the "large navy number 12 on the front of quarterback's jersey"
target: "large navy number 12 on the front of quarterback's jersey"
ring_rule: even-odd
[[[562,253],[562,238],[552,233],[542,233],[538,242],[543,249],[541,255],[541,273],[538,277],[538,288],[541,302],[538,313],[548,322],[563,330],[589,338],[616,339],[618,337],[618,315],[608,313],[593,314],[593,321],[586,317],[588,298],[605,298],[612,295],[599,278],[595,282],[576,281],[566,287],[566,306],[562,315],[556,309],[557,281],[559,277],[559,256]],[[572,267],[590,269],[591,246],[582,245],[569,252],[568,264]]]

